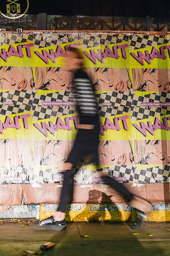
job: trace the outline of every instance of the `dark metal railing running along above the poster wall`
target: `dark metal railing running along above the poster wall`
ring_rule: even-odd
[[[0,16],[0,29],[23,30],[113,30],[113,31],[170,31],[170,18],[58,16],[40,13],[19,19]]]

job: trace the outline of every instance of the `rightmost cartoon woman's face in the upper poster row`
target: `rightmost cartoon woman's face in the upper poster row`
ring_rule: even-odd
[[[170,69],[132,69],[133,91],[170,91]]]

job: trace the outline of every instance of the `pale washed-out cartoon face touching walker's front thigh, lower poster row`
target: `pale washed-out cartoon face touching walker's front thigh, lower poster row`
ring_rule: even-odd
[[[72,140],[35,140],[34,163],[41,165],[60,165],[67,160],[72,146]]]

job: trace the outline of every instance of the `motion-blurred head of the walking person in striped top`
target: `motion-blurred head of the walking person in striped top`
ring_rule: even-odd
[[[79,49],[77,48],[67,48],[66,55],[66,70],[70,72],[75,72],[77,69],[83,67],[83,56]]]

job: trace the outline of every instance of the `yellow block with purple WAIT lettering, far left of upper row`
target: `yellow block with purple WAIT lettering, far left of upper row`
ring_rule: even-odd
[[[33,41],[0,46],[0,66],[33,67]]]

